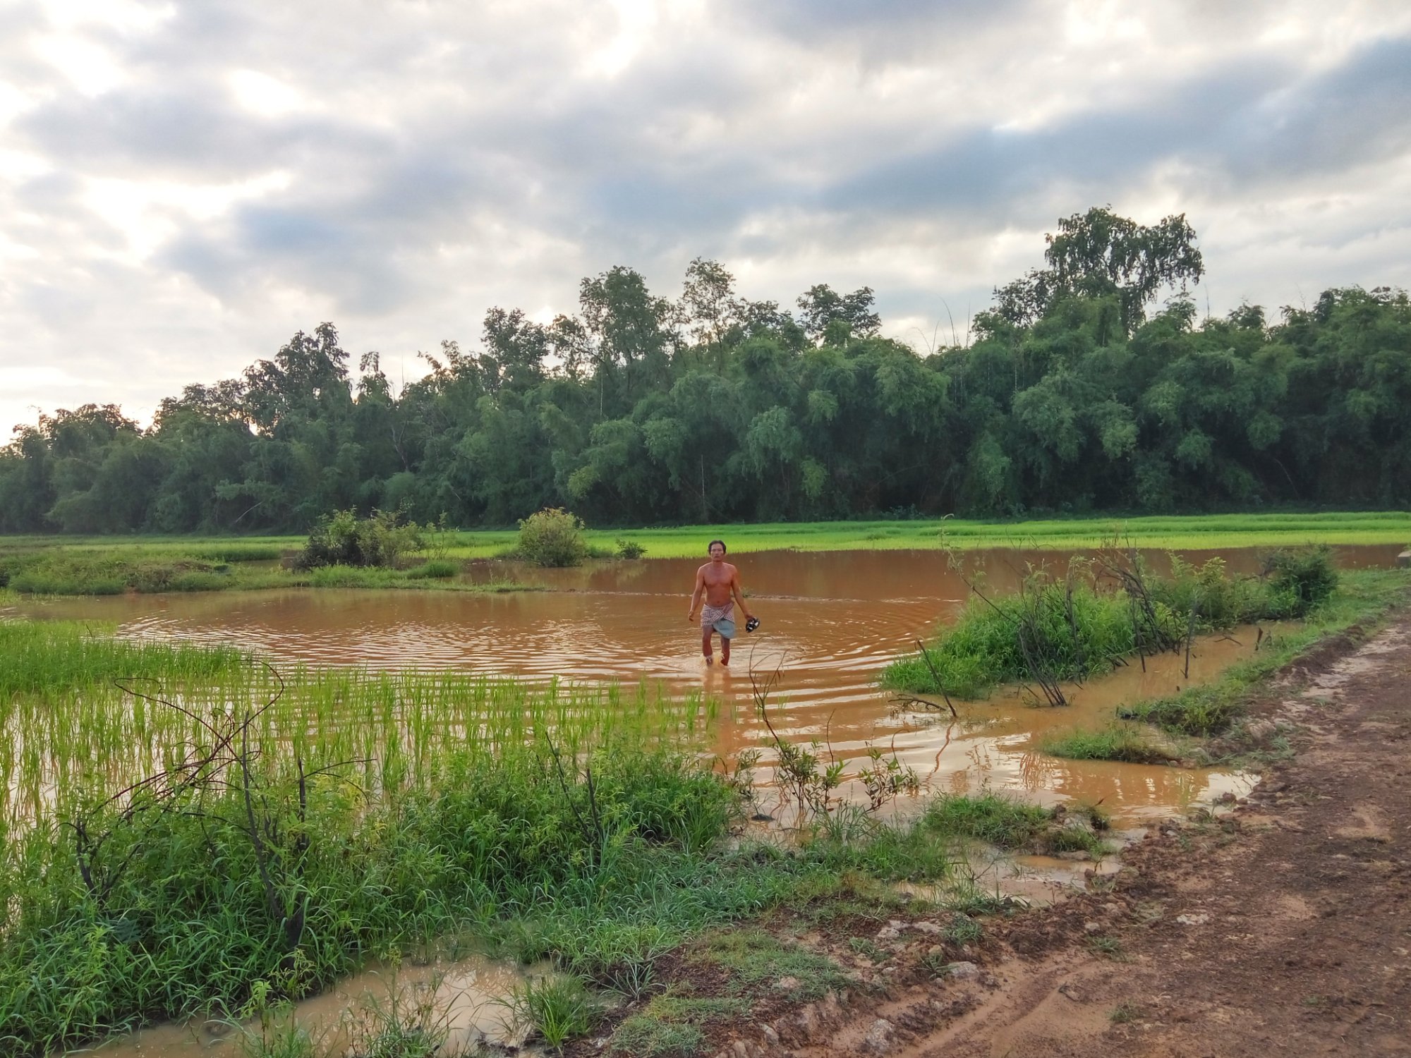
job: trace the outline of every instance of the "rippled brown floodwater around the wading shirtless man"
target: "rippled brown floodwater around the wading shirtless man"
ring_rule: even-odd
[[[1395,547],[1346,547],[1345,567],[1395,563]],[[1204,560],[1212,553],[1192,552]],[[1229,568],[1252,571],[1252,550],[1225,553]],[[1153,559],[1161,564],[1161,556]],[[1051,552],[992,550],[968,559],[995,592],[1015,590]],[[1209,769],[1071,762],[1034,749],[1037,738],[1106,722],[1125,701],[1167,694],[1209,679],[1253,652],[1252,633],[1198,643],[1189,677],[1184,659],[1149,662],[1070,688],[1067,708],[1036,708],[1022,693],[961,703],[959,718],[899,711],[876,688],[879,670],[964,607],[961,577],[935,552],[766,552],[738,560],[762,628],[737,640],[729,670],[707,669],[686,609],[696,560],[601,563],[576,570],[516,568],[512,576],[546,591],[298,590],[127,595],[25,602],[23,614],[119,622],[119,635],[226,642],[271,657],[310,664],[454,667],[531,680],[621,680],[697,688],[724,703],[713,749],[732,758],[761,745],[751,697],[751,666],[780,670],[770,701],[776,728],[825,739],[856,759],[868,742],[896,753],[923,777],[923,791],[1013,790],[1055,803],[1102,801],[1119,824],[1178,811],[1237,789],[1240,777]],[[502,566],[471,577],[502,578]],[[782,721],[780,721],[782,718]],[[765,791],[766,810],[770,794]],[[903,805],[904,810],[904,805]]]

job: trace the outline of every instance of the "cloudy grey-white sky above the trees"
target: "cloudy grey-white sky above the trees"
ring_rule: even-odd
[[[1103,203],[1215,313],[1408,286],[1408,192],[1400,0],[0,0],[0,437],[696,255],[924,348]]]

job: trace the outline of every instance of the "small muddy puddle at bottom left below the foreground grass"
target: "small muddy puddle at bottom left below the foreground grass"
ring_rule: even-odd
[[[488,959],[461,959],[433,966],[375,965],[327,992],[293,1006],[293,1017],[319,1044],[322,1054],[351,1054],[364,1038],[373,1011],[387,1011],[394,1003],[405,1019],[444,1034],[443,1054],[474,1052],[481,1042],[521,1048],[525,1030],[515,1023],[507,1004],[528,972]],[[278,1019],[277,1019],[278,1021]],[[258,1023],[246,1023],[258,1033]],[[229,1021],[193,1019],[182,1024],[159,1024],[100,1045],[68,1051],[97,1058],[240,1058],[241,1027]]]

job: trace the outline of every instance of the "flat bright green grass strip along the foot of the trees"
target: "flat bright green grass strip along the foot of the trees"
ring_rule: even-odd
[[[944,537],[943,537],[944,533]],[[1086,518],[1015,522],[882,521],[762,525],[693,525],[670,529],[590,529],[587,543],[610,556],[626,540],[649,559],[697,557],[722,537],[732,553],[768,550],[896,550],[935,547],[943,539],[959,550],[1023,547],[1095,549],[1113,535],[1137,547],[1201,550],[1276,547],[1307,543],[1407,545],[1411,513],[1192,515]],[[514,530],[450,532],[437,543],[442,561],[497,559],[512,552]],[[27,592],[102,594],[117,591],[207,591],[219,588],[317,587],[308,574],[277,568],[298,552],[302,536],[270,537],[0,537],[0,581]],[[478,590],[460,577],[378,577],[341,573],[351,587]],[[4,587],[0,584],[0,587]],[[501,585],[511,587],[511,585]]]

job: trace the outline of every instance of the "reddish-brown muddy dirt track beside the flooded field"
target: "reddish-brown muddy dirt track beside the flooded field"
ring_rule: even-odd
[[[871,983],[756,1009],[707,1054],[1411,1055],[1411,616],[1276,691],[1253,728],[1297,755],[1246,803],[1151,832],[1102,890],[988,920],[940,980],[935,927],[893,921]]]

